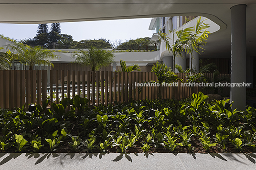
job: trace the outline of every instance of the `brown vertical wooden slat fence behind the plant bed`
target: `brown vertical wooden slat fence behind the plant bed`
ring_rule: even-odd
[[[178,75],[185,80],[185,74],[178,73]],[[206,74],[206,76],[212,75]],[[230,77],[230,74],[221,74],[221,76]],[[50,70],[48,86],[46,86],[46,70],[0,70],[0,79],[3,80],[0,82],[0,107],[9,109],[22,107],[23,104],[26,108],[31,103],[42,104],[46,98],[50,98],[51,103],[59,103],[63,96],[72,98],[77,94],[88,98],[89,105],[107,105],[114,101],[122,103],[128,102],[129,99],[143,100],[158,97],[157,86],[143,87],[141,93],[137,86],[138,83],[156,81],[157,77],[151,72]],[[181,99],[190,96],[191,88],[181,86],[180,81],[177,83],[178,86],[162,87],[164,99]],[[192,89],[194,93],[199,90],[202,88]],[[230,92],[230,87],[224,87],[224,92]]]

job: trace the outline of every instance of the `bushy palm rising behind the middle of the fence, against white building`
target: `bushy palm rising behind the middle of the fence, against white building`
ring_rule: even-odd
[[[89,66],[91,71],[97,71],[102,66],[108,66],[112,63],[114,55],[112,51],[90,47],[88,51],[78,49],[72,57],[76,57],[75,63]]]

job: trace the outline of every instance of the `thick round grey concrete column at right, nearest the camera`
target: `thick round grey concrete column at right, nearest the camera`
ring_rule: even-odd
[[[246,5],[231,7],[231,83],[246,82]],[[232,109],[245,110],[246,88],[231,87]]]

